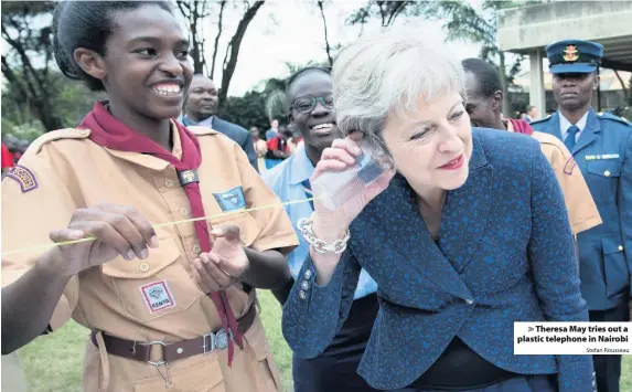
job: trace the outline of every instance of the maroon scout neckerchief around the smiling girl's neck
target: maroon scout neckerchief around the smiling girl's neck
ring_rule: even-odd
[[[97,102],[95,104],[93,112],[88,113],[79,125],[79,128],[90,129],[90,139],[99,146],[119,151],[148,153],[173,165],[181,178],[186,198],[191,203],[191,214],[193,218],[206,216],[204,214],[202,194],[200,193],[199,179],[195,172],[202,163],[200,144],[197,142],[197,138],[182,125],[178,124],[178,121],[172,121],[172,124],[175,125],[178,134],[180,135],[182,160],[175,158],[170,151],[147,136],[135,131],[114,118],[104,103]],[[212,244],[206,221],[195,221],[193,224],[195,225],[195,234],[200,242],[201,251],[211,252]],[[228,304],[226,292],[211,293],[211,298],[215,303],[215,307],[222,319],[222,326],[228,336],[233,336],[237,346],[244,349],[242,332],[237,328],[237,321]],[[228,339],[228,364],[233,361],[233,341]]]

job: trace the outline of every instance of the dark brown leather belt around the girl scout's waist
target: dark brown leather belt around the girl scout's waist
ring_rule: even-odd
[[[237,321],[242,333],[250,328],[257,316],[257,307],[251,306],[250,310]],[[98,347],[96,335],[98,331],[93,330],[90,339],[93,345]],[[183,340],[176,343],[164,343],[162,341],[140,342],[114,337],[103,333],[106,351],[113,356],[135,359],[149,364],[159,365],[176,361],[179,359],[197,356],[201,353],[211,353],[214,350],[223,350],[228,347],[228,335],[221,328],[216,332],[204,335],[201,338]],[[232,338],[232,337],[231,337]],[[162,346],[162,359],[151,361],[152,346]]]

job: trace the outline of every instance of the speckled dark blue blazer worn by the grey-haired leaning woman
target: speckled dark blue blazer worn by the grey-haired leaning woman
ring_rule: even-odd
[[[397,174],[351,224],[326,286],[308,256],[283,307],[294,353],[317,357],[344,321],[361,266],[381,309],[358,373],[376,389],[419,378],[458,336],[488,361],[558,373],[559,391],[592,390],[590,356],[514,356],[514,321],[587,321],[561,190],[527,136],[473,129],[470,176],[446,194],[438,244]]]

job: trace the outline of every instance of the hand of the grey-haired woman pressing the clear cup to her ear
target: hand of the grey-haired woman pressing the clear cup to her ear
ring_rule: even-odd
[[[353,133],[344,139],[333,140],[332,146],[323,150],[321,160],[318,162],[314,173],[312,174],[311,182],[313,183],[323,172],[345,171],[352,168],[355,165],[356,157],[362,152],[356,142],[361,138],[362,134]],[[314,235],[328,243],[341,239],[351,222],[353,222],[366,204],[388,188],[393,176],[395,176],[395,170],[386,171],[377,181],[364,189],[362,193],[349,200],[335,211],[328,210],[319,203],[318,200],[314,200]]]

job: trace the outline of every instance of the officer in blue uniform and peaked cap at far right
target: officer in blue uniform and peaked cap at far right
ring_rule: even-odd
[[[603,224],[578,234],[581,292],[591,321],[630,320],[632,126],[591,107],[603,55],[599,43],[566,40],[546,47],[558,110],[532,123],[571,151]],[[619,391],[621,356],[594,356],[599,392]]]

